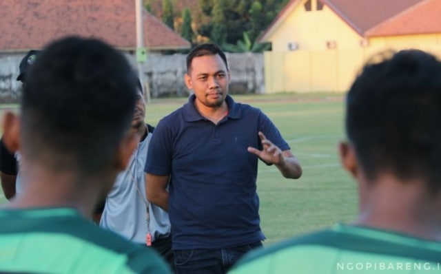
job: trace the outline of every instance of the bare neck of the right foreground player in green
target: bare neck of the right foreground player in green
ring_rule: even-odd
[[[398,231],[441,242],[441,194],[431,197],[422,180],[401,182],[392,176],[365,186],[355,224]]]

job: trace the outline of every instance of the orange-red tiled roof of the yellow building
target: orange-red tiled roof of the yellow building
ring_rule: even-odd
[[[360,36],[393,36],[441,32],[440,0],[318,0]],[[267,41],[301,0],[291,0],[260,35]],[[429,15],[429,16],[428,16]]]

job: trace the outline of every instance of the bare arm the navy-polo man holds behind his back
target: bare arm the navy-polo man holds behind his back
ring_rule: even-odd
[[[168,191],[167,185],[170,176],[158,176],[147,173],[145,176],[145,192],[147,200],[152,204],[156,204],[161,209],[168,211]]]

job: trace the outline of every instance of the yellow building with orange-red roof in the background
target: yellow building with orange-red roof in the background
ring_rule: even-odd
[[[345,92],[385,50],[441,56],[441,0],[291,0],[258,39],[265,92]]]

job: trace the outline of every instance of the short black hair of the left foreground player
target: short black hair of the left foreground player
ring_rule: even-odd
[[[21,139],[28,159],[85,173],[109,168],[137,94],[123,54],[99,39],[68,36],[45,47],[26,76]]]

